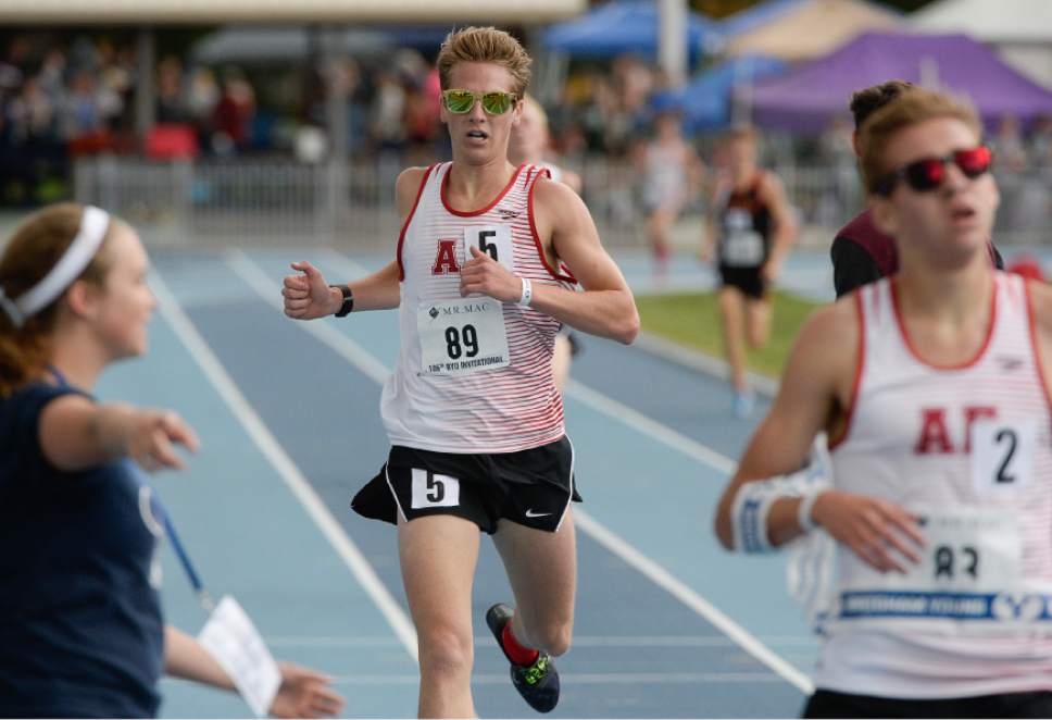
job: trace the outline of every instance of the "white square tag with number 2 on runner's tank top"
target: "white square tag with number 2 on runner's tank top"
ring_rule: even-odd
[[[1015,493],[1030,484],[1038,427],[1034,420],[972,424],[972,484],[977,495]]]

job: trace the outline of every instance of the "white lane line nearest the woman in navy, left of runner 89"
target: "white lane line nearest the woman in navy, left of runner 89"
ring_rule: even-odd
[[[390,624],[391,630],[394,631],[396,636],[401,641],[402,646],[416,660],[416,631],[401,606],[388,592],[387,586],[377,576],[373,567],[358,549],[358,546],[347,536],[343,529],[340,527],[336,518],[329,512],[328,507],[326,507],[325,502],[314,492],[314,488],[306,481],[306,477],[303,476],[300,469],[292,462],[292,459],[267,429],[259,413],[255,412],[245,395],[241,394],[241,390],[238,389],[237,384],[227,373],[223,363],[220,362],[220,359],[212,351],[212,348],[209,347],[197,327],[195,327],[193,323],[190,322],[190,319],[183,311],[183,308],[179,307],[178,300],[168,289],[159,272],[153,272],[150,284],[160,300],[161,314],[173,330],[175,330],[187,350],[189,350],[190,355],[201,367],[205,376],[208,376],[227,407],[230,408],[231,412],[234,412],[235,417],[246,429],[249,436],[255,442],[256,446],[263,452],[263,456],[277,470],[281,480],[292,491],[292,494],[322,531],[322,534],[328,539],[329,544],[336,550],[336,554],[343,560],[354,574],[359,584],[373,603],[376,604],[377,608],[379,608],[379,611],[384,615],[388,624]]]

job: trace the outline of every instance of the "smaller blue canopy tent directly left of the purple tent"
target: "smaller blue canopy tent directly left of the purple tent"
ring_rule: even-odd
[[[684,132],[721,129],[734,122],[731,95],[753,82],[780,75],[789,65],[777,58],[742,55],[726,60],[696,76],[677,90],[654,96],[655,112],[677,110],[684,115]]]

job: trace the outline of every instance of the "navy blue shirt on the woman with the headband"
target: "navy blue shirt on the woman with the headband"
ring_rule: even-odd
[[[62,472],[34,383],[0,398],[0,717],[153,717],[164,625],[161,527],[129,461]]]

